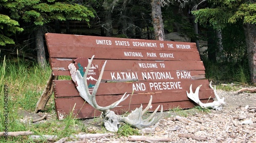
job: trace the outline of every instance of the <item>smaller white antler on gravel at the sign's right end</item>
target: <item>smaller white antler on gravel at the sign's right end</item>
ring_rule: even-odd
[[[201,88],[202,84],[199,85],[195,91],[195,93],[193,93],[192,91],[192,84],[190,85],[190,88],[189,88],[189,93],[187,92],[187,97],[191,100],[193,100],[194,102],[196,102],[199,106],[203,107],[203,108],[213,108],[213,109],[216,109],[216,110],[221,110],[222,109],[222,106],[225,105],[225,102],[224,102],[224,98],[220,98],[216,92],[216,86],[215,88],[212,88],[211,86],[211,81],[209,83],[209,87],[214,90],[214,94],[215,94],[215,97],[216,97],[216,100],[214,102],[211,102],[211,103],[202,103],[199,99],[199,89]]]

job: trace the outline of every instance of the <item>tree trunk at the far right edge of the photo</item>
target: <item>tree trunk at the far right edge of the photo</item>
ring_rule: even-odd
[[[250,68],[251,82],[256,83],[256,24],[245,24],[245,41]]]

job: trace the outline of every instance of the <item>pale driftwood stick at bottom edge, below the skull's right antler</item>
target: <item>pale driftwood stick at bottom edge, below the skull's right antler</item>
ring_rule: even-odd
[[[154,142],[154,141],[172,141],[169,137],[160,137],[160,136],[142,136],[142,135],[131,135],[129,136],[130,141],[147,141],[147,142]]]

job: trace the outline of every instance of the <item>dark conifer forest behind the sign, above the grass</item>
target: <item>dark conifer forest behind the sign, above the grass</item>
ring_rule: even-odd
[[[200,55],[208,78],[255,83],[255,11],[255,1],[242,0],[1,0],[1,60],[18,54],[45,68],[45,33],[156,40],[177,33],[199,51],[207,47]]]

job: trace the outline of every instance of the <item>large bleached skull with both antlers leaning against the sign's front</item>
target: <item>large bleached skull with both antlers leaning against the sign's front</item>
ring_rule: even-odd
[[[103,118],[103,122],[104,122],[104,126],[108,131],[112,131],[112,132],[117,132],[118,128],[120,126],[119,122],[124,122],[126,124],[130,124],[138,129],[143,129],[145,127],[149,127],[152,126],[154,124],[156,124],[161,116],[162,116],[162,112],[163,112],[163,107],[161,108],[161,113],[158,116],[158,118],[155,119],[156,116],[156,112],[159,109],[160,105],[156,108],[156,110],[152,113],[152,115],[150,117],[148,117],[147,119],[143,120],[142,116],[143,114],[151,107],[151,103],[152,103],[152,96],[150,99],[150,102],[148,103],[147,107],[142,110],[142,105],[139,108],[136,108],[135,110],[132,111],[132,113],[130,113],[130,115],[128,115],[127,117],[123,117],[123,116],[118,116],[115,114],[114,111],[111,111],[110,109],[115,108],[120,102],[124,101],[129,95],[125,96],[126,93],[121,97],[120,100],[114,102],[113,104],[106,106],[106,107],[101,107],[97,104],[96,102],[96,93],[99,87],[99,83],[101,81],[102,75],[103,75],[103,71],[106,65],[106,61],[104,62],[99,78],[95,84],[95,87],[93,89],[92,94],[90,94],[89,89],[88,89],[88,84],[87,84],[87,74],[88,71],[91,67],[92,64],[92,60],[94,58],[94,55],[92,56],[91,60],[89,60],[88,66],[86,68],[86,72],[84,73],[84,76],[82,77],[81,73],[76,70],[76,67],[73,63],[71,63],[69,65],[69,70],[70,70],[70,74],[72,77],[72,80],[74,82],[77,83],[77,90],[79,92],[79,95],[86,100],[90,105],[92,105],[95,109],[101,111],[101,117]],[[74,72],[76,71],[76,72]]]

